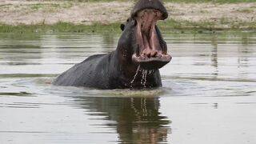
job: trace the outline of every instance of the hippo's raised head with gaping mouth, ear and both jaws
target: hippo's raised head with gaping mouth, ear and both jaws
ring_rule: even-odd
[[[167,17],[166,8],[159,0],[139,0],[126,24],[121,25],[123,34],[118,51],[122,52],[122,59],[146,70],[159,69],[170,62],[166,42],[156,26],[158,20]]]

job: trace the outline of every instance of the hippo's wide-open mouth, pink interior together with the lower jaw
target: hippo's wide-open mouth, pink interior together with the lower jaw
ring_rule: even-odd
[[[132,60],[147,70],[159,69],[170,62],[166,42],[159,42],[156,22],[162,18],[162,12],[154,9],[144,9],[137,13],[137,48]]]

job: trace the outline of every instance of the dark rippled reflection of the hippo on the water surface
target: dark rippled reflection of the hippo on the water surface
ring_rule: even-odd
[[[106,126],[116,128],[121,142],[166,142],[167,134],[170,133],[170,121],[159,112],[159,98],[75,99],[79,107],[88,110],[90,114],[107,115],[107,120],[114,121]]]

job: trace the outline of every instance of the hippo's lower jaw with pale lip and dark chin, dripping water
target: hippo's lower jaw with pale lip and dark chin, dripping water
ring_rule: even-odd
[[[132,61],[145,70],[160,69],[162,66],[165,66],[168,62],[170,62],[170,60],[170,54],[158,54],[157,57],[153,58],[148,58],[142,55],[136,56],[136,54],[133,54],[132,56]]]

